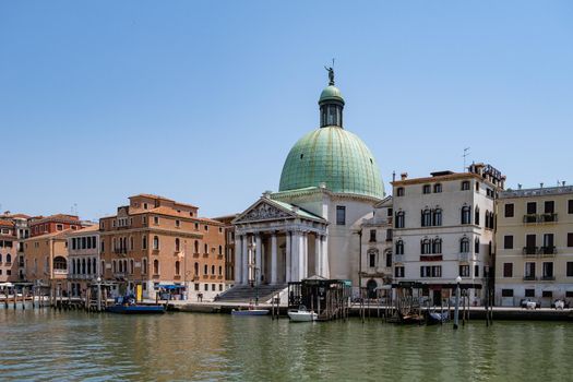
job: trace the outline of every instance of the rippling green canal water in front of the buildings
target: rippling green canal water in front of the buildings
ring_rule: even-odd
[[[0,380],[572,381],[573,325],[0,308]]]

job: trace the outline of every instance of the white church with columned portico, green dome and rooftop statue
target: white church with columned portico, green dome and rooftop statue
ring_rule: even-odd
[[[264,193],[232,222],[236,285],[320,276],[358,286],[360,223],[372,216],[384,186],[370,150],[344,129],[345,102],[329,74],[320,128],[290,150],[279,191]]]

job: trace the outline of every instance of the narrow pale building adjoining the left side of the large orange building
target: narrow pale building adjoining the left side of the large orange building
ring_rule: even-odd
[[[93,282],[102,277],[99,226],[94,225],[68,235],[68,290],[70,296],[85,296]]]

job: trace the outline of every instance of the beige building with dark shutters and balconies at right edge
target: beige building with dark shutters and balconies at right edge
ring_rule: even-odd
[[[573,299],[573,187],[502,192],[497,243],[498,305]]]

